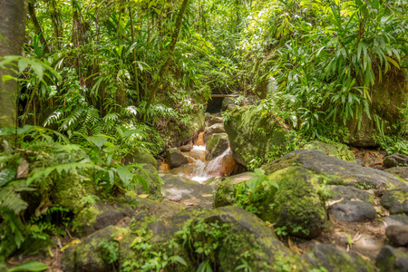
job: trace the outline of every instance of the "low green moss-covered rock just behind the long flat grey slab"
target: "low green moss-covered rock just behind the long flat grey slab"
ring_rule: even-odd
[[[327,143],[323,141],[309,141],[304,149],[306,151],[324,151],[326,155],[335,156],[338,159],[355,162],[355,154],[343,143]]]

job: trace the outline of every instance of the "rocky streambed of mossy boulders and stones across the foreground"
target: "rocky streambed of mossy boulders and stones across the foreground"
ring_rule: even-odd
[[[292,151],[258,174],[278,189],[263,181],[252,191],[252,172],[204,183],[178,175],[193,146],[168,152],[169,165],[172,152],[184,161],[168,173],[147,168],[156,197],[139,190],[88,208],[96,212],[77,224],[85,236],[64,249],[63,271],[408,270],[408,176],[393,167],[408,158],[385,158],[384,171]]]

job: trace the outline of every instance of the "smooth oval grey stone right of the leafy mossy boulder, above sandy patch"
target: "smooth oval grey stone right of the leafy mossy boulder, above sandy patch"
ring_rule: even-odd
[[[330,214],[346,222],[375,219],[377,213],[372,205],[360,201],[341,201],[330,207]]]

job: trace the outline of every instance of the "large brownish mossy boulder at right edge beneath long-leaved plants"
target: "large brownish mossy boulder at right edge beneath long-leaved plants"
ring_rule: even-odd
[[[381,83],[375,83],[370,103],[371,118],[365,112],[362,117],[346,122],[349,131],[348,143],[353,146],[377,145],[376,138],[395,134],[403,130],[402,109],[407,102],[408,83],[403,70],[393,69],[383,75]],[[375,119],[376,115],[382,123],[384,131],[378,131]]]

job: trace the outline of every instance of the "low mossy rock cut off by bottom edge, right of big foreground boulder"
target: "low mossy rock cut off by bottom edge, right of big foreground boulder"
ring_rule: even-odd
[[[302,258],[315,267],[325,267],[326,271],[333,272],[368,272],[375,271],[369,261],[355,252],[345,252],[332,245],[313,245]]]

